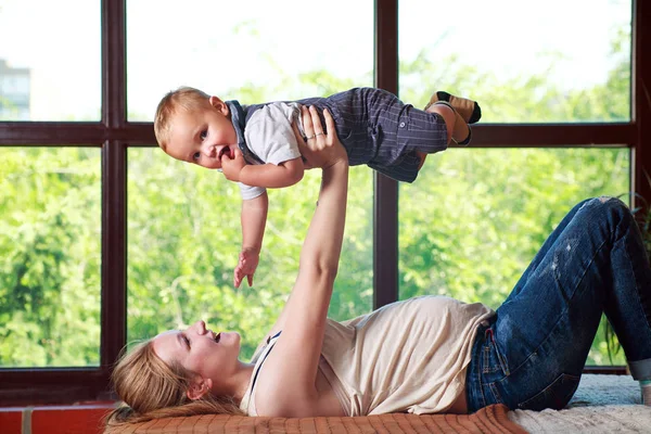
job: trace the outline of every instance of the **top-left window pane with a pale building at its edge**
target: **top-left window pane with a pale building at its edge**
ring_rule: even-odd
[[[100,36],[99,0],[3,0],[0,120],[100,119]]]

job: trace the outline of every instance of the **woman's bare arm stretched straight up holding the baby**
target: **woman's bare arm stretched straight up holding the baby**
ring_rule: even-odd
[[[324,117],[328,135],[314,107],[303,113],[308,140],[302,153],[309,165],[321,167],[321,189],[301,251],[298,277],[275,327],[282,334],[257,380],[255,404],[260,416],[314,416],[318,401],[315,382],[342,250],[348,188],[346,152],[332,117],[328,112]]]

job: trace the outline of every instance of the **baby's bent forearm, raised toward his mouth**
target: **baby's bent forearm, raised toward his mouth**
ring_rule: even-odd
[[[279,165],[247,164],[240,171],[240,182],[252,187],[280,189],[301,181],[304,170],[301,157],[288,159]]]

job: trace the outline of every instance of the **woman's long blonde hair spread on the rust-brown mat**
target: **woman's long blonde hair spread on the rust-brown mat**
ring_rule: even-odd
[[[114,390],[124,405],[106,417],[105,433],[157,418],[244,414],[231,397],[206,393],[200,399],[190,399],[187,392],[196,376],[179,363],[165,363],[151,340],[138,344],[120,357],[113,371]]]

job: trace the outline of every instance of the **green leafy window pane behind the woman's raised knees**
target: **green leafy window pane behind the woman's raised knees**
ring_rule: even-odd
[[[450,149],[399,189],[400,298],[445,294],[497,308],[579,201],[624,195],[627,149]],[[604,175],[607,174],[607,175]],[[603,334],[589,363],[608,365]],[[622,354],[615,362],[623,363]]]

